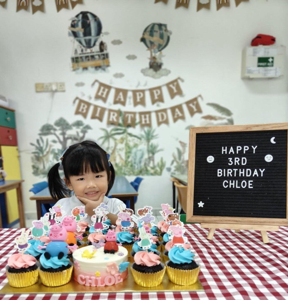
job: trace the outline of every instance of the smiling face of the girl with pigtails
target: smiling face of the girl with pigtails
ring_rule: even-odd
[[[108,190],[108,176],[106,171],[100,173],[89,171],[83,175],[70,176],[69,182],[67,180],[65,182],[67,187],[73,190],[76,196],[92,201],[99,200],[101,194],[106,194]]]

